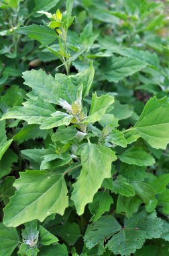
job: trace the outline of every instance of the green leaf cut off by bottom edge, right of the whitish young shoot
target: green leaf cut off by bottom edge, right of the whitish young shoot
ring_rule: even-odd
[[[50,245],[49,247],[42,247],[40,250],[40,256],[56,256],[56,255],[68,256],[66,245]]]

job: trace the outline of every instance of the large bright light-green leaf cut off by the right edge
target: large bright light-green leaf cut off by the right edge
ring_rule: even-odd
[[[155,96],[147,102],[142,115],[135,123],[136,131],[152,148],[164,150],[169,143],[168,110],[168,98],[158,100]]]

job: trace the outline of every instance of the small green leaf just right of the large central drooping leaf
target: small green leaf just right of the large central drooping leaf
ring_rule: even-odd
[[[115,194],[125,195],[125,197],[131,197],[135,195],[133,186],[127,182],[127,180],[121,175],[113,182],[113,192]]]

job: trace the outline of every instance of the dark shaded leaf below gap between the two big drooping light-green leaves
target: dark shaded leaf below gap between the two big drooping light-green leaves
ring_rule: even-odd
[[[81,236],[79,225],[76,222],[56,225],[52,231],[57,236],[60,236],[68,245],[74,245]]]

